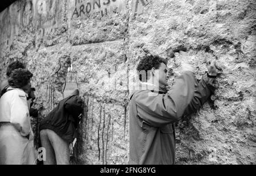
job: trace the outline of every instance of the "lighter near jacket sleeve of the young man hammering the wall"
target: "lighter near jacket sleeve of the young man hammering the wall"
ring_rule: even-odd
[[[174,87],[165,95],[138,93],[135,95],[138,116],[155,127],[179,121],[193,98],[195,83],[194,74],[187,71],[176,79]]]

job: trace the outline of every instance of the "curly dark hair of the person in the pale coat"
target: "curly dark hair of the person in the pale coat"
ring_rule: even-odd
[[[15,88],[22,88],[27,85],[32,78],[33,74],[24,68],[15,69],[10,78],[8,79],[9,85]]]

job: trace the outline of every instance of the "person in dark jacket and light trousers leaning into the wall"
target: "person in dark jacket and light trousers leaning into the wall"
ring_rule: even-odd
[[[64,98],[40,123],[40,139],[46,148],[45,165],[69,164],[69,144],[76,135],[84,102],[76,89]]]

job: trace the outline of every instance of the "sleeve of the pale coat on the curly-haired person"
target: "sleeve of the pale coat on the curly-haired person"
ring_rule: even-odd
[[[10,122],[22,136],[30,134],[30,115],[28,112],[26,96],[15,92],[10,101]]]

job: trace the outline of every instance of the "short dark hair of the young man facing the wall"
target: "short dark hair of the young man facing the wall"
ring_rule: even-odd
[[[149,76],[148,70],[151,70],[153,67],[155,69],[158,69],[160,67],[160,64],[164,63],[167,65],[167,61],[164,58],[159,57],[158,55],[145,55],[144,57],[141,58],[141,61],[139,61],[139,64],[137,66],[137,72],[139,75],[139,80],[141,81],[146,81]],[[144,77],[146,73],[146,80],[142,80],[142,77]]]

